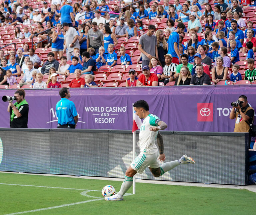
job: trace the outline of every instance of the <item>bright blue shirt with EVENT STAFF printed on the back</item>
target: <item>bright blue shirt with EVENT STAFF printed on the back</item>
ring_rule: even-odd
[[[75,104],[66,98],[61,98],[56,104],[56,115],[61,125],[74,125],[74,117],[77,116]]]

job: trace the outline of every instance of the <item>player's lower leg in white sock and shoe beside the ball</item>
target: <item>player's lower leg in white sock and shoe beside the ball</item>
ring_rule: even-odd
[[[113,195],[113,196],[105,197],[105,200],[106,201],[120,201],[120,200],[123,200],[124,194],[132,186],[133,176],[136,173],[137,173],[137,171],[132,169],[131,166],[129,166],[129,168],[125,172],[124,182],[122,183],[120,191],[117,194]]]

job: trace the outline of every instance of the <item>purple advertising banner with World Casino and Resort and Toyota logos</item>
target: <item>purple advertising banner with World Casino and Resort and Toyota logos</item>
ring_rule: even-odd
[[[55,106],[60,89],[27,89],[29,128],[57,128]],[[0,97],[15,90],[0,90]],[[133,88],[71,88],[70,100],[78,112],[77,128],[132,129],[132,104],[145,100],[149,111],[168,125],[169,131],[233,132],[235,120],[229,119],[230,103],[246,95],[256,108],[256,85],[171,86]],[[9,127],[8,102],[0,102],[0,127]]]

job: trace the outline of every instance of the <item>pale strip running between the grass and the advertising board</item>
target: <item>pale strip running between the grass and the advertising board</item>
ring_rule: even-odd
[[[10,174],[26,174],[26,175],[44,175],[44,176],[55,176],[55,177],[68,177],[78,178],[74,175],[55,175],[55,174],[33,174],[33,173],[19,173],[19,172],[4,172]],[[91,176],[80,176],[79,178],[84,179],[95,179],[95,180],[108,180],[108,181],[123,181],[123,178],[107,178],[107,177],[91,177]],[[256,193],[256,185],[226,185],[226,184],[203,184],[203,183],[192,183],[192,182],[176,182],[176,181],[157,181],[157,180],[139,180],[136,179],[136,183],[148,183],[148,184],[166,184],[166,185],[177,185],[177,186],[193,186],[193,187],[213,187],[213,188],[228,188],[228,189],[246,189]]]

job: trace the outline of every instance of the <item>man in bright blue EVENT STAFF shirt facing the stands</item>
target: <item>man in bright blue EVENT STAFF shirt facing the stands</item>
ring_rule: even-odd
[[[75,128],[78,121],[78,115],[75,104],[68,100],[71,97],[69,89],[63,87],[59,94],[61,100],[56,104],[58,128]]]

